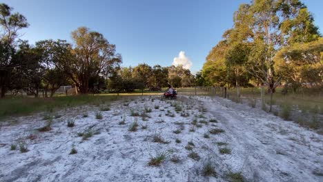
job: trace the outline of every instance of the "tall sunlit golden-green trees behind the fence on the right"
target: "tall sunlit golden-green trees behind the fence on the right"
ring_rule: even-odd
[[[323,88],[323,39],[299,0],[255,0],[233,14],[233,28],[206,57],[204,85]]]

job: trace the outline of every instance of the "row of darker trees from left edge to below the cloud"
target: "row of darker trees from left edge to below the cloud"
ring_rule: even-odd
[[[19,39],[19,31],[29,24],[22,14],[0,3],[0,92],[24,90],[39,96],[43,89],[52,97],[61,85],[73,85],[75,92],[87,94],[107,87],[122,90],[150,88],[160,90],[168,83],[175,87],[195,83],[190,70],[182,66],[161,67],[139,64],[121,68],[121,54],[104,36],[86,27],[71,33],[66,40],[43,40],[30,45]]]

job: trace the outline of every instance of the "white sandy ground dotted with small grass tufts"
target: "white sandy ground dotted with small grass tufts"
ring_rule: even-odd
[[[177,101],[160,101],[155,97],[138,97],[110,103],[110,111],[101,112],[104,119],[95,119],[99,107],[83,106],[61,110],[50,132],[38,132],[46,124],[43,114],[5,121],[0,128],[0,181],[229,181],[228,172],[242,172],[246,181],[323,181],[323,136],[290,121],[267,114],[257,108],[233,103],[218,97],[179,97]],[[182,105],[189,117],[181,117],[171,104]],[[159,109],[154,106],[159,105]],[[148,121],[131,117],[130,111],[151,108]],[[203,110],[206,108],[206,110]],[[175,117],[166,116],[167,111]],[[88,113],[88,117],[82,117]],[[169,114],[168,114],[169,115]],[[206,117],[206,119],[200,116]],[[126,118],[126,125],[119,121]],[[219,123],[193,128],[191,121]],[[74,128],[67,121],[75,120]],[[128,131],[133,121],[137,132]],[[180,125],[182,123],[182,125]],[[199,123],[200,124],[200,123]],[[183,127],[184,126],[184,127]],[[99,131],[86,141],[78,132],[91,128]],[[174,130],[184,128],[182,133]],[[212,128],[225,130],[221,134],[204,133]],[[30,134],[36,139],[27,139]],[[160,134],[170,143],[153,143]],[[175,139],[182,143],[176,143]],[[12,143],[26,142],[28,152],[10,150]],[[188,157],[185,149],[193,141],[201,159]],[[217,142],[228,143],[231,154],[220,154]],[[69,154],[74,143],[77,154]],[[166,151],[168,159],[159,167],[148,165],[150,155]],[[170,158],[178,156],[179,163]],[[206,161],[215,165],[217,176],[202,175]]]

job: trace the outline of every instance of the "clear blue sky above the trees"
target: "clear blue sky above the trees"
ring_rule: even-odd
[[[233,26],[233,12],[249,0],[5,0],[23,14],[30,27],[21,39],[70,40],[70,32],[86,26],[117,45],[124,66],[148,63],[168,66],[179,52],[202,68],[208,52]],[[323,1],[304,0],[323,28]],[[183,54],[181,54],[183,56]],[[181,56],[181,57],[182,57]]]

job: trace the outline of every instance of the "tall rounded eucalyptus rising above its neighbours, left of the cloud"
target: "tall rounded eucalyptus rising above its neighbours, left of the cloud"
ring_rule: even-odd
[[[70,79],[81,94],[89,92],[90,78],[110,77],[121,63],[121,55],[115,53],[115,45],[103,34],[80,27],[72,32],[75,47],[74,59],[69,60]]]

